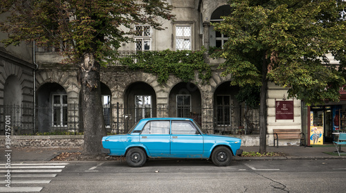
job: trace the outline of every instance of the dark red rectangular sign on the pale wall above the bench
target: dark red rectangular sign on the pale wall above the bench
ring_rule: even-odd
[[[293,120],[293,100],[275,100],[275,120]]]

